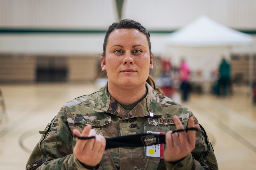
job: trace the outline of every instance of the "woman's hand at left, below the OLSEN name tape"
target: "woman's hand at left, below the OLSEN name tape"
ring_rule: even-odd
[[[73,130],[74,135],[78,137],[95,136],[95,139],[88,140],[76,138],[76,146],[74,147],[73,154],[80,162],[94,167],[101,161],[106,146],[106,139],[101,135],[96,135],[95,130],[91,128],[91,125],[86,125],[82,133],[77,129]]]

